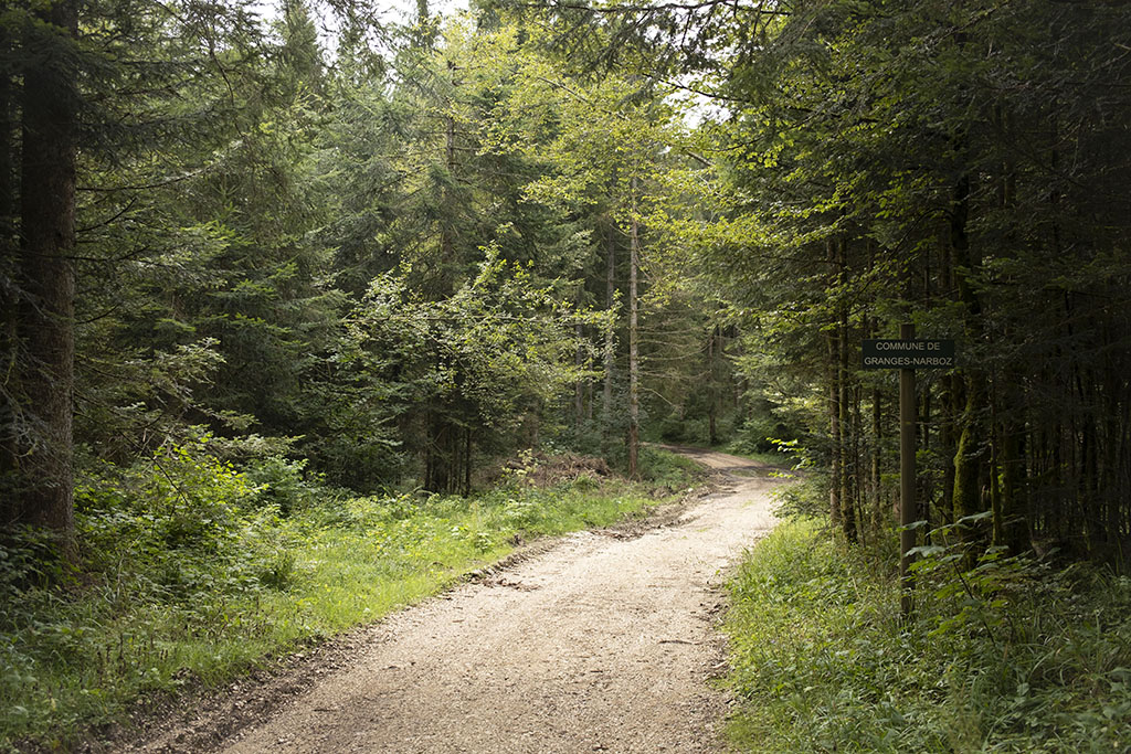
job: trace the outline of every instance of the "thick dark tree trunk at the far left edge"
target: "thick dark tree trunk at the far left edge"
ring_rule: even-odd
[[[76,90],[67,47],[77,34],[72,0],[38,14],[25,44],[40,51],[25,69],[20,164],[18,335],[20,390],[35,436],[20,443],[16,515],[53,531],[75,555],[72,393],[75,385]]]

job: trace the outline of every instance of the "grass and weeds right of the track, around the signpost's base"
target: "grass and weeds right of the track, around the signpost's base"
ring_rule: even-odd
[[[1131,751],[1131,580],[926,548],[895,579],[818,523],[783,523],[731,583],[744,752]]]

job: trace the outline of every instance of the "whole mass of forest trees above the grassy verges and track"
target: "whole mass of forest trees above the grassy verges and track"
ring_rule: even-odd
[[[463,493],[664,437],[804,447],[878,541],[860,344],[913,322],[960,353],[916,398],[922,531],[1122,562],[1128,12],[9,3],[6,537],[74,558],[76,475],[201,436]]]

